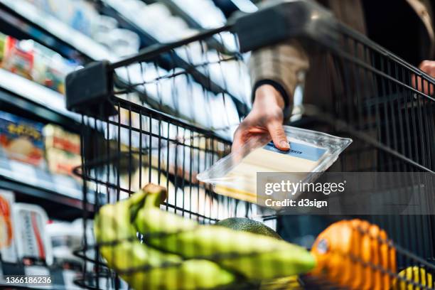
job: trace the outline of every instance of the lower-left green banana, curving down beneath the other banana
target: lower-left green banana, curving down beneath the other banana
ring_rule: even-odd
[[[213,289],[232,284],[235,275],[205,259],[183,260],[141,244],[132,224],[155,186],[114,205],[104,205],[95,218],[95,237],[100,253],[134,289]],[[160,188],[159,188],[160,190]],[[155,191],[155,190],[154,190]]]

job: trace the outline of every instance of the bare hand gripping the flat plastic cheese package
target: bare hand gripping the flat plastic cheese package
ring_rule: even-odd
[[[255,91],[252,110],[235,131],[232,151],[239,150],[249,139],[272,139],[276,148],[290,149],[284,127],[284,100],[272,85],[261,85]]]

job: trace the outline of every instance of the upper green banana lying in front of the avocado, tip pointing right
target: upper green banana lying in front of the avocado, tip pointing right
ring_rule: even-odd
[[[148,190],[134,223],[149,235],[146,243],[185,259],[210,259],[248,280],[274,279],[308,272],[315,260],[306,249],[273,237],[237,232],[159,209],[164,188]],[[153,234],[164,232],[166,235]]]

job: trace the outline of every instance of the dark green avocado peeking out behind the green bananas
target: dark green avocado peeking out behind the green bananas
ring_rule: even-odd
[[[216,225],[221,227],[227,227],[232,230],[240,230],[242,232],[251,232],[252,234],[265,235],[268,237],[274,237],[278,240],[282,240],[274,230],[272,230],[267,225],[262,222],[257,222],[257,220],[249,220],[249,218],[226,218],[225,220],[220,220],[216,222]]]

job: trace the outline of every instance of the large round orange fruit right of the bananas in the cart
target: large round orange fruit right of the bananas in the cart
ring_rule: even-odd
[[[394,247],[384,230],[365,220],[333,223],[318,235],[311,253],[317,262],[313,276],[358,290],[390,289],[392,285],[385,271],[396,271]]]

